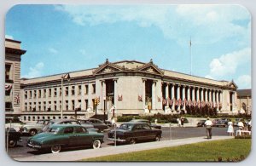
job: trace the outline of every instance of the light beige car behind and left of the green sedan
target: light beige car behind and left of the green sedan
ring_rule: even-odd
[[[48,123],[48,119],[38,120],[33,123],[26,123],[20,128],[20,131],[22,131],[23,134],[29,134],[31,136],[37,135],[38,132],[40,132]]]

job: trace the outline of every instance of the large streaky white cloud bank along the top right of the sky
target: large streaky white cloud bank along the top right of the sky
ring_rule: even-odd
[[[165,37],[177,43],[216,43],[227,37],[247,40],[251,27],[234,21],[250,22],[250,14],[239,5],[143,5],[143,6],[81,6],[56,5],[79,26],[96,26],[118,21],[134,21],[138,26],[156,26]],[[249,33],[249,34],[247,34]],[[206,40],[207,39],[207,40]],[[247,42],[244,42],[247,43]]]

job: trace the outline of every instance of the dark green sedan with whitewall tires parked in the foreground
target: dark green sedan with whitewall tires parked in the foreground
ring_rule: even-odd
[[[88,131],[79,124],[55,124],[38,135],[27,140],[26,146],[37,150],[50,150],[52,153],[61,152],[62,148],[90,146],[100,148],[104,135]]]

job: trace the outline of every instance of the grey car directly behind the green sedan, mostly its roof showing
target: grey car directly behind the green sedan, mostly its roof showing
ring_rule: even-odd
[[[78,120],[76,119],[55,119],[55,120],[50,120],[47,125],[44,126],[44,128],[40,132],[45,132],[51,125],[53,124],[79,124],[84,126],[85,129],[89,129],[91,131],[98,131],[98,129],[95,129],[92,124],[88,123],[79,123]]]

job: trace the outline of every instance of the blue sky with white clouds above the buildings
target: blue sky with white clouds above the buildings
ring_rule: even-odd
[[[240,5],[16,5],[5,37],[21,41],[21,77],[138,60],[251,89],[251,15]],[[189,44],[191,41],[191,45]]]

